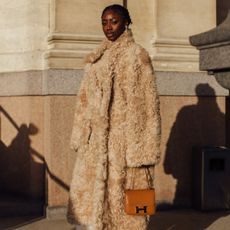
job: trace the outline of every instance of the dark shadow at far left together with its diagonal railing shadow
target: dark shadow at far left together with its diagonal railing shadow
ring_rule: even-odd
[[[69,186],[51,172],[45,158],[31,147],[30,136],[36,135],[38,128],[34,124],[18,126],[1,106],[0,114],[17,130],[9,146],[0,140],[0,218],[44,215],[45,174],[65,190],[69,190]],[[35,162],[34,157],[40,162]],[[4,226],[0,224],[0,228]]]

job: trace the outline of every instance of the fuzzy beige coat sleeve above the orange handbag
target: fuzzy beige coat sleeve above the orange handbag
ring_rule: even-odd
[[[135,57],[127,73],[133,79],[127,97],[127,167],[155,165],[160,159],[161,119],[153,67],[143,48]]]

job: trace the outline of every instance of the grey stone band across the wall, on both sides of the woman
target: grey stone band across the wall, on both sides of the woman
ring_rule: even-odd
[[[155,74],[162,96],[197,96],[196,86],[199,84],[208,84],[216,96],[228,95],[228,90],[205,72],[156,71]],[[82,69],[0,73],[0,96],[76,95],[82,76]],[[213,96],[213,93],[204,89],[198,96]]]

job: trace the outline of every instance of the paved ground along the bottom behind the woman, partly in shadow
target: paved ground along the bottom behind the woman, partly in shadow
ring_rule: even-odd
[[[1,218],[0,230],[73,230],[65,219]],[[152,217],[148,230],[230,230],[230,212],[194,210],[161,211]],[[119,230],[119,229],[118,229]],[[129,230],[129,229],[127,229]],[[132,228],[130,228],[132,230]]]

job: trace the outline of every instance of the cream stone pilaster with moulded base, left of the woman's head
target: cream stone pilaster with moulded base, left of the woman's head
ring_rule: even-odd
[[[123,1],[52,0],[46,68],[82,69],[83,58],[103,38],[101,12]]]

